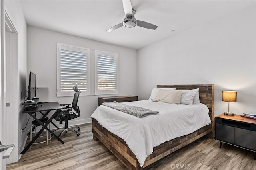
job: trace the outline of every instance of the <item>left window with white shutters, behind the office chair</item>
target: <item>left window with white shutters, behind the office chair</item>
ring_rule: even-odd
[[[57,43],[57,96],[89,95],[89,49]]]

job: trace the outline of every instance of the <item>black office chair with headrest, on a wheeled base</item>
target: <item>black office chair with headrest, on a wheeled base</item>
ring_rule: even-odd
[[[78,131],[80,131],[80,127],[77,127],[77,126],[69,127],[68,126],[68,120],[72,120],[72,119],[75,119],[75,118],[80,116],[80,110],[79,110],[79,106],[77,106],[77,102],[78,102],[79,94],[81,92],[77,88],[77,86],[74,86],[73,90],[75,91],[75,93],[74,93],[72,106],[70,106],[71,104],[60,104],[61,106],[64,106],[63,109],[58,110],[55,113],[56,115],[55,115],[54,118],[55,118],[56,121],[60,121],[60,124],[62,124],[62,122],[65,121],[65,126],[64,126],[62,132],[60,133],[59,137],[61,137],[64,132],[67,133],[68,131],[72,131],[72,132],[76,133],[77,136],[80,135],[75,130],[75,129],[78,129]],[[74,113],[73,110],[76,113]],[[59,129],[56,129],[56,130],[59,130]]]

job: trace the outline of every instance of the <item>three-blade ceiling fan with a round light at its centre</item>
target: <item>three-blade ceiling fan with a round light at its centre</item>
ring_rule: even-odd
[[[110,29],[108,29],[107,30],[108,32],[118,29],[122,26],[132,28],[132,27],[135,27],[136,25],[138,25],[140,27],[144,27],[144,28],[148,28],[148,29],[156,29],[157,28],[156,25],[135,19],[134,14],[136,13],[136,11],[132,8],[132,3],[130,0],[123,0],[123,7],[124,7],[124,13],[126,16],[124,18],[124,21],[122,23],[119,23],[119,24],[115,25],[114,27],[111,27]]]

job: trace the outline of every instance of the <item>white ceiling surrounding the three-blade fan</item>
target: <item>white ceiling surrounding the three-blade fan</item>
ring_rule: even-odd
[[[106,30],[124,18],[121,0],[22,0],[28,25],[140,49],[214,18],[255,6],[254,1],[132,0],[135,18],[157,25]],[[175,31],[172,31],[175,30]]]

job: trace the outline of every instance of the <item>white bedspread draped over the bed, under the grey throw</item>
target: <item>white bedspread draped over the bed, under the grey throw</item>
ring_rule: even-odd
[[[202,103],[168,104],[140,100],[125,104],[159,111],[143,118],[100,105],[92,114],[100,125],[126,141],[140,166],[153,148],[176,137],[188,135],[211,123],[209,109]]]

